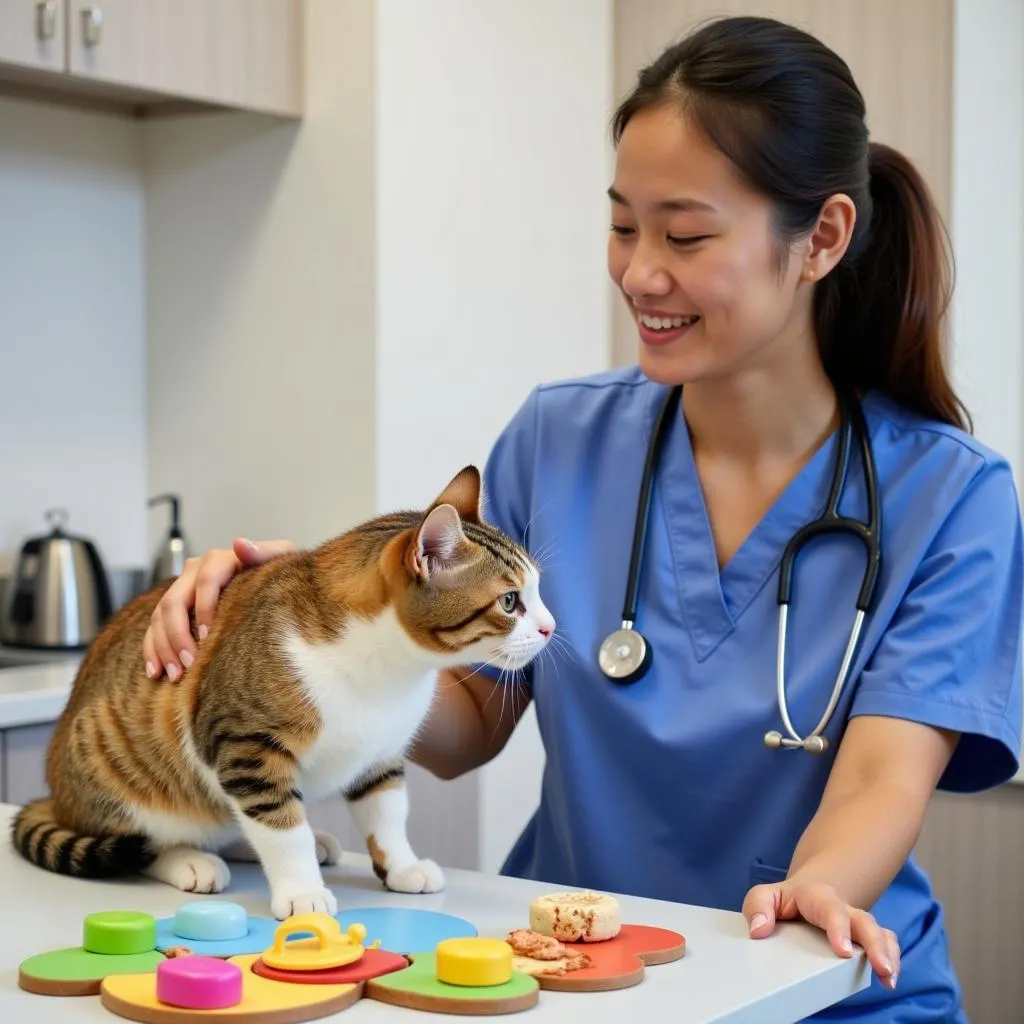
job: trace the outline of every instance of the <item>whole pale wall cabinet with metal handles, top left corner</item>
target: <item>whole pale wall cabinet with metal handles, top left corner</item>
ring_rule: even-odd
[[[303,0],[3,0],[0,92],[299,118]]]

